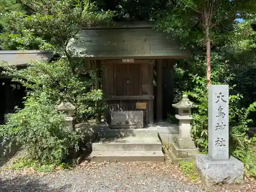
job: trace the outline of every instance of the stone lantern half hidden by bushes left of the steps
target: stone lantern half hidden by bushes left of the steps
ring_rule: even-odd
[[[66,123],[69,125],[70,132],[75,129],[75,106],[70,102],[62,102],[57,106],[57,110],[66,114]]]

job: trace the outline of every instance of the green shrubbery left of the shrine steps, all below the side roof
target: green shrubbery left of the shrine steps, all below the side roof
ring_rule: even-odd
[[[77,122],[86,122],[104,109],[95,105],[102,100],[102,90],[94,89],[95,73],[84,69],[84,60],[74,63],[73,69],[65,58],[49,63],[32,61],[20,70],[7,63],[0,65],[3,74],[15,76],[13,80],[27,89],[25,108],[10,114],[1,128],[2,145],[6,150],[11,150],[12,144],[21,145],[29,164],[56,165],[67,157],[70,147],[78,148],[82,136],[68,131],[65,116],[55,109],[57,104],[74,104]]]

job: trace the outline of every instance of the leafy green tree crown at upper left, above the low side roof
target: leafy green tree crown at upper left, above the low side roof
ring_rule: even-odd
[[[64,52],[69,40],[81,27],[105,22],[113,16],[111,11],[98,11],[95,4],[88,0],[19,0],[19,4],[17,0],[12,1],[26,9],[14,9],[9,3],[5,3],[6,11],[0,19],[3,33],[9,35],[2,43],[6,49],[46,48],[41,47],[41,39],[57,46],[58,52],[62,51],[61,54],[67,54]],[[7,10],[8,6],[10,9]],[[12,44],[14,46],[10,46]]]

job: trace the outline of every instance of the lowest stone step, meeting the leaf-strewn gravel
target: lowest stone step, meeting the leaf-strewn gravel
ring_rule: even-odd
[[[162,151],[96,151],[92,152],[90,157],[93,162],[164,161]]]

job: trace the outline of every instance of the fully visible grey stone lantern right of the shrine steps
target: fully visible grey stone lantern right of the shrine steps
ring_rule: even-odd
[[[171,157],[174,163],[178,163],[182,160],[191,160],[194,155],[198,153],[198,150],[191,138],[191,109],[197,106],[188,99],[187,95],[183,95],[180,102],[173,104],[174,108],[179,110],[178,114],[175,115],[179,119],[179,135],[176,138],[176,143],[173,143]]]

